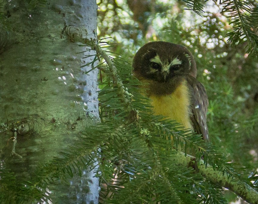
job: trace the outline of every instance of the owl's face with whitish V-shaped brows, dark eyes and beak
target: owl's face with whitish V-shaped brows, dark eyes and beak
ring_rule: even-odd
[[[162,61],[158,55],[150,60],[150,69],[147,75],[159,82],[167,82],[173,77],[174,72],[180,69],[182,61],[177,57],[169,61]]]

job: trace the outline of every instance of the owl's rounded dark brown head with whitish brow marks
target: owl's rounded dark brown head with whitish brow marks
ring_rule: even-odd
[[[196,64],[193,55],[184,46],[169,42],[150,42],[135,54],[134,72],[144,78],[167,82],[178,75],[196,78]]]

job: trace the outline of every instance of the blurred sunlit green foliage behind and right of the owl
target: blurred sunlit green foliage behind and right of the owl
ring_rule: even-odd
[[[110,37],[114,44],[106,49],[130,63],[149,41],[181,44],[193,53],[198,80],[209,97],[211,142],[226,154],[228,162],[255,171],[258,60],[248,53],[247,39],[234,46],[228,42],[228,33],[234,30],[228,13],[221,12],[223,2],[206,2],[201,15],[187,10],[185,2],[174,0],[97,0],[97,5],[98,38]]]

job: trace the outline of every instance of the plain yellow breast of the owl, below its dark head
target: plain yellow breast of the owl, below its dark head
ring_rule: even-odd
[[[172,94],[150,95],[154,113],[163,115],[178,123],[186,129],[193,129],[190,123],[190,94],[186,81],[183,81]]]

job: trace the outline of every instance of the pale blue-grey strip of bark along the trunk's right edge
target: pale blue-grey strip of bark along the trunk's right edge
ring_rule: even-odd
[[[75,36],[75,41],[77,38],[87,38],[87,39],[97,39],[96,30],[97,30],[97,4],[95,1],[87,0],[75,0],[74,6],[76,16],[82,16],[80,21],[78,19],[67,19],[66,24],[68,28],[73,24],[73,21],[78,26],[78,30],[81,33],[78,33],[77,30],[72,30],[71,33],[66,33],[69,37]],[[71,21],[72,20],[72,21]],[[70,22],[71,21],[71,22]],[[85,32],[84,32],[85,29]],[[66,30],[68,30],[66,28]],[[77,35],[77,36],[76,36]],[[92,117],[94,120],[99,121],[99,112],[98,112],[98,86],[97,86],[97,75],[98,69],[90,71],[93,67],[97,65],[97,62],[94,62],[91,65],[85,66],[90,62],[94,61],[94,55],[96,55],[95,50],[87,50],[88,47],[82,47],[81,52],[84,52],[84,55],[91,56],[86,59],[81,58],[81,82],[85,85],[83,86],[82,101],[84,102],[84,110],[87,115]],[[90,72],[88,72],[90,71]],[[88,73],[87,73],[88,72]],[[87,74],[85,74],[87,73]],[[76,198],[77,203],[98,203],[98,192],[99,192],[99,179],[95,177],[96,171],[98,169],[98,161],[95,158],[94,162],[95,168],[90,170],[85,170],[85,174],[82,177],[75,177],[71,182],[71,185],[78,186],[76,189]],[[89,191],[83,191],[83,187],[88,186]],[[74,186],[72,186],[74,187]]]

